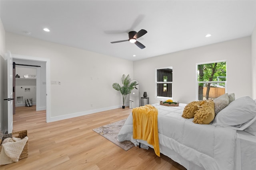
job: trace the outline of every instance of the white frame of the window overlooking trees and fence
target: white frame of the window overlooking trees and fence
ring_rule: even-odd
[[[201,64],[210,64],[210,63],[221,63],[226,62],[226,81],[202,81],[198,82],[198,65]],[[198,100],[198,84],[199,83],[225,83],[225,93],[228,92],[228,61],[227,60],[220,60],[220,61],[210,61],[204,63],[196,63],[196,100]]]

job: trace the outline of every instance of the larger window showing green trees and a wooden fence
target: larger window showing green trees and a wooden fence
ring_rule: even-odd
[[[215,99],[226,93],[226,61],[196,64],[196,98]]]

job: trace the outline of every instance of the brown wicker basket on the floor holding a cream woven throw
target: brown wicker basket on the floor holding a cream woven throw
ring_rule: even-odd
[[[27,130],[24,131],[18,131],[18,132],[14,132],[14,133],[8,133],[3,135],[2,139],[0,139],[0,152],[2,150],[2,141],[4,141],[4,139],[8,138],[8,137],[18,137],[23,139],[24,137],[28,136]],[[26,158],[28,157],[28,141],[26,142],[21,154],[20,154],[20,159]]]

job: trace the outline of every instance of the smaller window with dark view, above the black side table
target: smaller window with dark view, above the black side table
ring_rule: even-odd
[[[156,96],[172,98],[172,67],[156,69]]]

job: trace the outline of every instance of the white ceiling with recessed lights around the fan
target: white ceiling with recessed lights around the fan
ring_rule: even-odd
[[[0,0],[0,17],[11,33],[136,61],[250,36],[256,0]],[[110,43],[140,29],[144,49]]]

